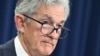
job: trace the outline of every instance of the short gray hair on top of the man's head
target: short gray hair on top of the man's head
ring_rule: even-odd
[[[65,18],[69,15],[69,0],[18,0],[16,4],[15,14],[21,13],[32,16],[36,12],[40,4],[62,5],[65,9]]]

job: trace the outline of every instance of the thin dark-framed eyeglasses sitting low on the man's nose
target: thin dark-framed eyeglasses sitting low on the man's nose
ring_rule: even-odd
[[[64,39],[64,38],[66,38],[67,36],[68,36],[68,33],[69,33],[69,29],[68,28],[66,28],[66,27],[61,27],[61,26],[59,26],[59,27],[55,27],[55,26],[53,26],[53,25],[51,25],[51,24],[48,24],[47,22],[41,22],[41,21],[38,21],[38,20],[36,20],[36,19],[34,19],[34,18],[31,18],[31,17],[29,17],[29,16],[27,16],[27,15],[25,15],[25,14],[22,14],[23,16],[25,16],[25,17],[27,17],[27,18],[29,18],[29,19],[31,19],[31,20],[34,20],[34,21],[36,21],[37,23],[39,23],[39,24],[41,24],[41,28],[40,28],[40,31],[41,31],[41,33],[43,33],[43,34],[45,34],[45,35],[49,35],[49,34],[51,34],[54,30],[56,30],[56,33],[57,34],[60,34],[60,36],[59,36],[59,39]]]

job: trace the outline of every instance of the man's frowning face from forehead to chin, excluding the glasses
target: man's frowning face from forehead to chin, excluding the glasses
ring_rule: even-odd
[[[47,22],[55,27],[64,23],[64,8],[62,6],[41,6],[32,18]],[[33,53],[50,55],[56,47],[59,35],[56,31],[49,35],[41,33],[41,24],[31,20],[24,28],[24,42]]]

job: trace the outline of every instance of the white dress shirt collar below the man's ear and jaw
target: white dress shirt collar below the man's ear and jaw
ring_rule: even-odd
[[[15,44],[15,51],[16,51],[17,56],[29,56],[24,50],[24,48],[22,47],[18,36],[16,36],[14,40],[14,44]]]

